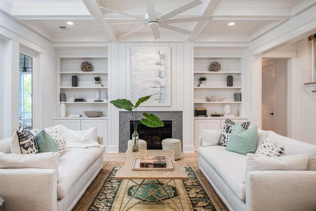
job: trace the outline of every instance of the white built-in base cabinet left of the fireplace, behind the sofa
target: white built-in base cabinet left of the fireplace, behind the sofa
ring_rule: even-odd
[[[84,130],[96,127],[99,136],[103,136],[103,143],[106,143],[108,134],[108,120],[104,118],[56,118],[54,125],[62,125],[72,130]]]

